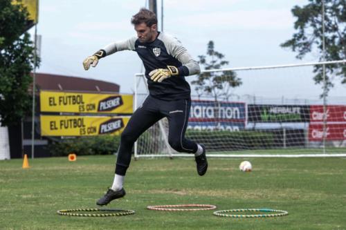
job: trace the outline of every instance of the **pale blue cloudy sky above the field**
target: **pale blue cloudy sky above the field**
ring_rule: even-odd
[[[291,8],[307,3],[308,0],[163,0],[163,31],[177,37],[197,60],[198,55],[206,54],[208,41],[214,41],[215,50],[229,61],[224,68],[316,62],[317,53],[300,60],[291,50],[280,47],[295,32]],[[113,41],[136,35],[130,19],[145,6],[145,0],[39,1],[37,34],[42,35],[42,62],[37,72],[100,79],[119,84],[120,93],[133,93],[134,74],[143,70],[136,52],[117,52],[88,71],[82,61]],[[158,21],[161,29],[160,0]],[[29,32],[33,35],[34,28]],[[239,73],[238,77],[243,84],[234,93],[239,96],[304,99],[322,93],[307,68]],[[330,95],[345,97],[346,86],[338,82],[336,79]]]

